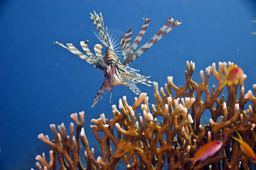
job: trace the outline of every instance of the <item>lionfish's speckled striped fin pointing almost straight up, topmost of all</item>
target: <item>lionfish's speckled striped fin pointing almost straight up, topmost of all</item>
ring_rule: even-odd
[[[98,32],[100,33],[100,37],[102,38],[102,42],[104,42],[104,45],[106,47],[109,46],[109,38],[107,34],[107,29],[104,28],[104,22],[103,22],[103,16],[102,13],[100,13],[100,16],[94,11],[94,15],[90,13],[90,18],[92,22],[94,23],[95,27],[97,28]],[[97,36],[97,34],[95,33]],[[100,39],[100,37],[97,36],[97,38]]]

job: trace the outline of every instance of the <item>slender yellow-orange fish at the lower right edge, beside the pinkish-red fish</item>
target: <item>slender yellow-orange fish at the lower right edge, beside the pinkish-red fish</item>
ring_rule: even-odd
[[[250,158],[253,163],[256,163],[255,152],[253,152],[252,148],[247,143],[242,141],[242,137],[239,133],[238,133],[238,137],[239,137],[239,139],[236,137],[233,137],[233,139],[240,142],[240,148],[242,149],[242,152],[245,154],[245,156]]]

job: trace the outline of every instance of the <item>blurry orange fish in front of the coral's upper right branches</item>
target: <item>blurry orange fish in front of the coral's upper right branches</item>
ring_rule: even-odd
[[[224,83],[219,86],[218,89],[223,89],[226,84],[228,84],[228,86],[232,84],[238,84],[239,79],[242,77],[242,74],[243,71],[240,67],[235,64],[230,65],[230,67],[228,67],[227,74],[225,76],[221,74],[221,76],[223,76],[224,78]]]

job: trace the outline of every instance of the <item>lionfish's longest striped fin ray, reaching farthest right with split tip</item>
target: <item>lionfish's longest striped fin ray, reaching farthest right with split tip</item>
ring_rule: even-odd
[[[164,37],[164,35],[166,35],[166,33],[169,33],[170,30],[172,30],[173,28],[175,28],[176,26],[181,24],[178,21],[176,21],[176,22],[174,22],[174,24],[172,26],[170,26],[173,21],[174,21],[173,18],[169,18],[169,20],[164,24],[164,26],[162,28],[160,28],[156,32],[156,34],[149,40],[149,42],[146,42],[146,44],[142,45],[142,47],[140,47],[139,50],[137,50],[133,54],[129,54],[129,56],[127,56],[125,58],[124,65],[127,65],[127,64],[131,63],[132,61],[134,61],[135,59],[137,59],[137,57],[142,55],[142,53],[145,52],[146,50],[148,50],[149,47],[151,47],[152,45],[154,45],[154,43],[156,43],[158,40],[160,40],[162,37]]]

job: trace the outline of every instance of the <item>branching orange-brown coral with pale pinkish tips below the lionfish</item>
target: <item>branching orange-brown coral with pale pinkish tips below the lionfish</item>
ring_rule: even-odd
[[[206,68],[205,79],[201,71],[201,82],[197,84],[191,79],[195,64],[187,62],[184,86],[174,85],[173,77],[167,78],[168,84],[160,91],[158,84],[154,84],[156,105],[151,106],[151,111],[149,98],[142,93],[134,99],[132,106],[125,96],[119,99],[119,109],[112,106],[114,118],[111,120],[104,114],[97,120],[92,119],[94,125],[91,128],[102,150],[97,159],[83,129],[84,112],[79,113],[80,121],[77,113],[70,115],[76,124],[74,132],[74,124],[70,123],[70,135],[67,135],[64,124],[58,126],[58,132],[55,125],[50,125],[55,136],[52,142],[47,135],[38,135],[51,149],[50,162],[43,153],[42,157],[36,157],[36,165],[39,169],[116,169],[123,160],[127,169],[163,169],[164,166],[168,169],[252,169],[253,163],[231,136],[240,132],[242,140],[255,149],[256,98],[252,91],[244,93],[245,74],[240,79],[240,86],[225,87],[228,89],[225,101],[221,94],[223,89],[213,86],[210,91],[210,73],[218,81],[218,86],[223,84],[220,74],[227,74],[227,63],[220,62],[218,67],[218,72],[215,63]],[[253,89],[256,93],[256,84]],[[142,114],[136,113],[139,107]],[[212,118],[208,125],[201,125],[207,109]],[[104,133],[103,137],[99,132]],[[213,140],[222,140],[222,147],[212,157],[192,167],[190,158],[193,154]],[[81,163],[81,145],[85,147],[86,167]]]

